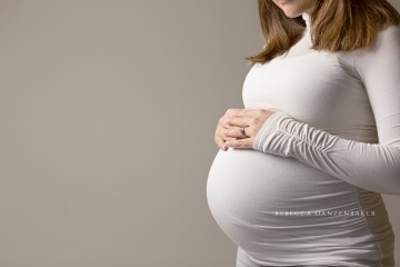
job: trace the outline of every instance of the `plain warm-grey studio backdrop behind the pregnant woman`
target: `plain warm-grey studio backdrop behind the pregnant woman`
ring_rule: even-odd
[[[206,182],[256,2],[0,0],[1,267],[234,266]]]

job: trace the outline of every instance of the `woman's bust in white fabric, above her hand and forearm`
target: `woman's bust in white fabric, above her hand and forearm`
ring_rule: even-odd
[[[244,81],[243,102],[247,108],[282,110],[326,130],[373,123],[362,82],[328,52],[311,50],[254,66]]]

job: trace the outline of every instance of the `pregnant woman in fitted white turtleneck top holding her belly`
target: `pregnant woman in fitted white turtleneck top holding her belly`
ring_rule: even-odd
[[[386,0],[259,0],[264,48],[223,115],[210,210],[237,267],[393,267],[400,16]]]

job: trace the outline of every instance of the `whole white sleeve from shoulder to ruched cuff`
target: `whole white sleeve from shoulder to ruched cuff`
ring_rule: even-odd
[[[342,139],[277,112],[253,148],[297,158],[367,190],[400,195],[400,28],[379,32],[373,46],[357,55],[353,71],[367,90],[378,144]]]

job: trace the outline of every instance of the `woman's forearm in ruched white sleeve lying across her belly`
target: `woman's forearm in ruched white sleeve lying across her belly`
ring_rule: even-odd
[[[253,148],[294,157],[367,190],[400,195],[400,144],[341,139],[278,112],[263,125]]]

